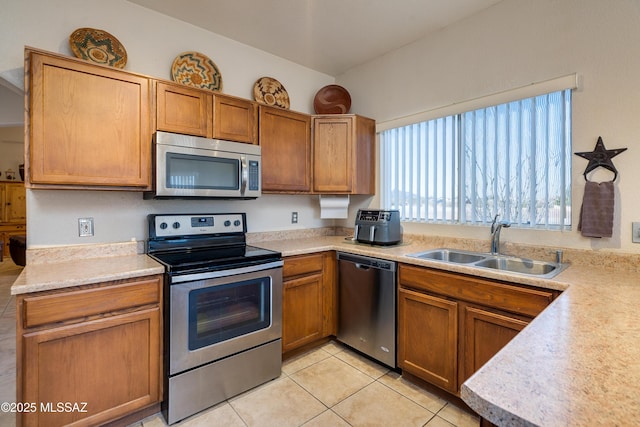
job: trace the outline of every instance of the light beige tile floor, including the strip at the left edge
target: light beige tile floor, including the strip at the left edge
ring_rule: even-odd
[[[21,269],[0,263],[0,402],[15,401],[15,297]],[[135,427],[162,427],[160,414]],[[196,414],[180,427],[477,427],[479,419],[336,342],[284,362],[282,375]],[[0,426],[15,426],[0,413]]]

